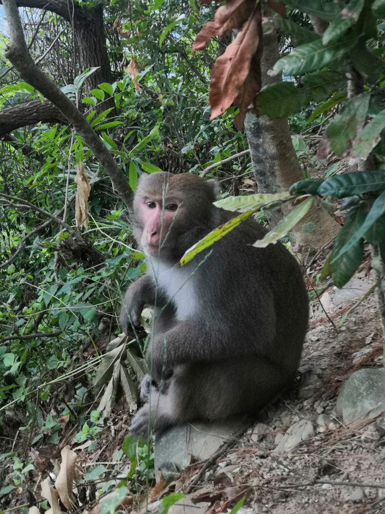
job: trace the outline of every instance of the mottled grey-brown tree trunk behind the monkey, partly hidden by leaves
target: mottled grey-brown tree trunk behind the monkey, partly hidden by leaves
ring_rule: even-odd
[[[267,75],[267,71],[273,68],[279,58],[277,34],[275,31],[264,34],[262,86],[280,80],[279,77]],[[247,113],[245,131],[260,193],[287,191],[294,182],[304,178],[292,144],[287,118],[271,120],[267,116],[257,117],[255,113]],[[268,212],[273,227],[285,212],[284,207]],[[315,198],[311,211],[293,229],[293,233],[297,243],[318,250],[338,230],[338,223],[323,209],[320,200]]]

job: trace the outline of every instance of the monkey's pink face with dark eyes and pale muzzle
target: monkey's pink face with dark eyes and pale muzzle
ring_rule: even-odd
[[[163,206],[164,205],[164,206]],[[182,202],[176,198],[142,198],[141,218],[144,222],[141,245],[152,257],[159,255],[162,245],[167,244],[167,234],[174,218],[181,215]]]

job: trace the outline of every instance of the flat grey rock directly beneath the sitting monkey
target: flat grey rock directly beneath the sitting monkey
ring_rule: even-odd
[[[218,448],[240,430],[243,423],[239,418],[227,419],[216,424],[196,423],[167,430],[155,439],[155,476],[159,481],[159,468],[172,462],[178,469],[189,462],[192,455],[205,461]]]

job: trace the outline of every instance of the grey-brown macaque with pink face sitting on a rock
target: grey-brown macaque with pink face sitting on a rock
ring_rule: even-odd
[[[133,199],[133,232],[147,272],[125,295],[120,321],[153,308],[131,432],[255,414],[293,379],[309,317],[302,273],[281,244],[255,248],[266,230],[248,218],[180,267],[184,252],[236,213],[213,205],[215,181],[152,173]]]

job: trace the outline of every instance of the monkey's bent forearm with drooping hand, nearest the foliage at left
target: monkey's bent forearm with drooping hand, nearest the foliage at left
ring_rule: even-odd
[[[140,325],[140,316],[145,305],[153,306],[155,303],[155,286],[149,274],[144,274],[133,282],[124,295],[122,310],[120,313],[120,324],[124,332],[132,323]]]

